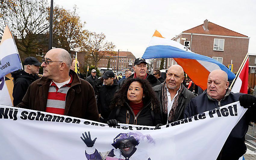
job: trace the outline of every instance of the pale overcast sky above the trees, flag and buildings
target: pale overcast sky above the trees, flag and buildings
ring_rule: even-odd
[[[128,50],[136,57],[142,56],[155,29],[171,39],[205,19],[250,37],[248,52],[256,54],[254,0],[54,0],[54,5],[76,5],[85,29],[103,32],[115,51]]]

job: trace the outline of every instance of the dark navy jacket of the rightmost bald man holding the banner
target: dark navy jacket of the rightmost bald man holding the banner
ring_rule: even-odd
[[[229,103],[236,102],[241,95],[242,93],[230,92],[224,100],[217,101],[210,100],[207,97],[207,92],[204,92],[190,101],[189,105],[185,108],[184,118],[218,108],[219,105],[225,106]],[[255,120],[255,112],[248,109],[230,132],[217,159],[239,159],[246,152],[245,134],[248,131],[250,120]]]

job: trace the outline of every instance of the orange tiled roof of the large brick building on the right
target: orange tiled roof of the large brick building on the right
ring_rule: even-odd
[[[238,32],[226,29],[222,26],[208,22],[208,30],[204,30],[203,24],[196,26],[194,28],[183,31],[183,33],[198,33],[198,34],[208,34],[208,35],[226,35],[226,36],[235,36],[235,37],[248,37],[242,35]]]

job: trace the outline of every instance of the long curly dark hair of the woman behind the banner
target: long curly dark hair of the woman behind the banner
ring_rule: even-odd
[[[150,83],[147,80],[140,79],[140,78],[127,79],[127,82],[125,82],[123,84],[122,88],[119,89],[119,91],[114,95],[114,98],[111,102],[110,108],[113,109],[117,106],[118,107],[124,106],[124,103],[129,101],[127,98],[127,92],[128,92],[129,86],[133,82],[139,82],[139,84],[143,88],[144,106],[147,105],[148,102],[151,101],[151,110],[159,113],[160,112],[159,102],[158,102],[158,98],[155,95],[155,91],[153,91],[152,86],[150,85]]]

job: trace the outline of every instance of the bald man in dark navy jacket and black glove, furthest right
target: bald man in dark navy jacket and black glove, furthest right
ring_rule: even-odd
[[[229,82],[226,72],[222,70],[212,71],[208,76],[207,92],[193,98],[184,111],[184,118],[188,118],[238,100],[240,105],[244,108],[251,108],[246,111],[229,134],[217,158],[223,160],[239,159],[245,154],[245,134],[248,131],[250,120],[252,120],[252,118],[255,120],[256,98],[248,94],[230,92],[228,86]]]

